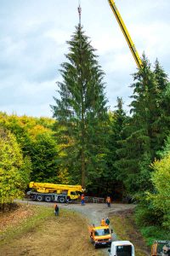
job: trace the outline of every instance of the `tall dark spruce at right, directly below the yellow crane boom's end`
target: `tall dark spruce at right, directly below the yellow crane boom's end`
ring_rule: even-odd
[[[150,161],[155,157],[155,121],[159,87],[150,62],[143,56],[143,67],[133,75],[132,118],[126,127],[126,139],[119,149],[116,166],[124,172],[124,183],[131,193],[150,187]]]

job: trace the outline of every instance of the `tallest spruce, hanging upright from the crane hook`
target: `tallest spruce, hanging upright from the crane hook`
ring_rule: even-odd
[[[82,187],[98,179],[105,169],[106,122],[108,119],[104,73],[82,26],[71,37],[67,61],[61,64],[59,96],[52,106],[60,127],[60,143],[65,143],[61,164],[70,169]]]

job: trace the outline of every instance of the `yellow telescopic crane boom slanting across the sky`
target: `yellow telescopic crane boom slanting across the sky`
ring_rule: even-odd
[[[122,16],[120,15],[118,9],[116,8],[116,3],[114,0],[108,0],[108,1],[109,1],[109,4],[111,6],[111,9],[112,9],[114,15],[116,16],[116,20],[122,29],[122,33],[127,40],[127,44],[133,54],[133,58],[136,61],[137,66],[140,68],[140,67],[142,67],[142,61],[139,57],[137,49],[135,48],[135,46],[133,44],[133,40],[127,31],[127,27],[125,26],[124,21],[122,20]]]

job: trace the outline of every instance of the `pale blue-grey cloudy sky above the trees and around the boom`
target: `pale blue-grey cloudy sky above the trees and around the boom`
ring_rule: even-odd
[[[0,0],[0,111],[52,116],[59,65],[78,23],[78,0]],[[136,63],[107,0],[82,0],[82,26],[105,72],[106,96],[129,104]],[[116,0],[139,55],[170,73],[170,0]]]

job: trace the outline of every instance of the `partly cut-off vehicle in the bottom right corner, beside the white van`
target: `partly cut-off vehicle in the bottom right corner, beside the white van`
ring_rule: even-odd
[[[151,256],[170,256],[170,241],[154,241],[151,247]]]

